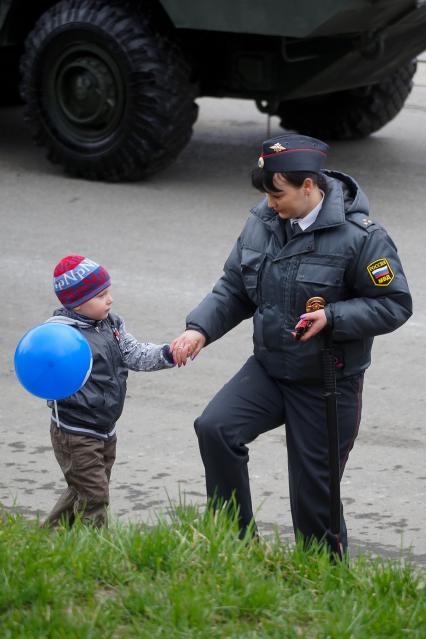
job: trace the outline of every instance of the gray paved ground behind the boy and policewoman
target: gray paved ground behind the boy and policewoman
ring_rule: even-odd
[[[266,137],[250,103],[200,100],[191,144],[146,183],[109,185],[64,177],[32,146],[19,109],[0,112],[1,251],[0,501],[44,514],[63,487],[41,400],[18,384],[15,346],[55,307],[51,271],[67,253],[98,260],[114,281],[115,307],[139,338],[171,340],[188,310],[221,273],[258,195],[249,173]],[[372,217],[399,247],[415,315],[377,339],[366,378],[364,418],[342,484],[353,547],[426,563],[424,238],[426,61],[400,115],[368,140],[334,145],[328,163],[352,174]],[[279,132],[271,122],[271,133]],[[186,369],[131,374],[120,420],[112,511],[146,520],[168,500],[204,502],[192,428],[209,398],[251,350],[246,322]],[[253,496],[263,530],[291,535],[282,428],[251,446]]]

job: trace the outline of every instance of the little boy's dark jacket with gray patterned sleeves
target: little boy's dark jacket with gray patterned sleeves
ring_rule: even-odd
[[[174,366],[167,344],[138,342],[118,315],[110,313],[107,319],[95,321],[60,308],[48,321],[75,327],[92,351],[92,370],[84,386],[57,402],[59,427],[67,432],[111,439],[123,410],[128,369],[156,371]],[[48,405],[53,407],[53,402]],[[56,421],[55,411],[52,419]]]

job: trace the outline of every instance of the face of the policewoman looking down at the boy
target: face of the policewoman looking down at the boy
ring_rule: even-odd
[[[310,211],[309,196],[312,190],[312,180],[307,178],[302,186],[293,186],[280,173],[274,175],[274,186],[277,193],[266,193],[268,206],[283,220],[302,218]]]

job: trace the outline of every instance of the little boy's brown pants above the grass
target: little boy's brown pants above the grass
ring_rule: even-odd
[[[115,461],[116,439],[104,441],[86,435],[65,433],[54,422],[50,426],[53,451],[68,487],[44,522],[61,521],[72,526],[78,513],[84,523],[107,525],[109,480]]]

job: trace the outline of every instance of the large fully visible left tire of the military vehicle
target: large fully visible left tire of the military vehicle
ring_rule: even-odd
[[[72,175],[139,179],[170,164],[191,137],[190,68],[135,4],[62,0],[27,38],[26,119]]]

